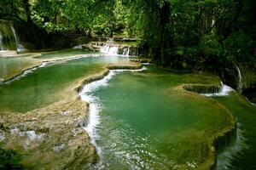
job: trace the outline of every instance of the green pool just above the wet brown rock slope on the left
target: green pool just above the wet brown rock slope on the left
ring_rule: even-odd
[[[58,54],[55,54],[58,55]],[[86,57],[39,68],[26,77],[0,86],[0,111],[26,112],[61,99],[75,80],[99,73],[118,57]]]

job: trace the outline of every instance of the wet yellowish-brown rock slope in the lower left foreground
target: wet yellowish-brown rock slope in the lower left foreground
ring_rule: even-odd
[[[6,149],[18,150],[25,167],[82,168],[98,159],[83,128],[87,108],[72,99],[22,115],[1,115],[0,139]]]

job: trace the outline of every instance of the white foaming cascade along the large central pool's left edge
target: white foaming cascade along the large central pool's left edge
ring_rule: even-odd
[[[99,104],[99,99],[96,98],[92,93],[101,87],[108,86],[108,82],[118,73],[123,71],[131,71],[131,72],[138,72],[144,71],[146,67],[138,70],[110,70],[108,76],[104,77],[101,80],[90,82],[89,84],[84,85],[84,88],[79,93],[81,99],[89,103],[89,113],[87,119],[87,125],[84,127],[84,130],[89,134],[91,143],[96,146],[96,150],[99,156],[102,156],[102,149],[96,144],[96,140],[100,137],[97,135],[96,127],[100,123],[100,116],[99,112],[101,111],[101,105]]]

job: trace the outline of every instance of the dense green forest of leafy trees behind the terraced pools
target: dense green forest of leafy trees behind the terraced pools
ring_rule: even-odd
[[[255,68],[255,8],[254,0],[2,0],[0,19],[48,35],[136,37],[142,56],[214,72],[234,87],[237,65]]]

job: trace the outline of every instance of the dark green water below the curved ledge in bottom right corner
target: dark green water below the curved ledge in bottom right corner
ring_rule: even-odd
[[[219,169],[256,169],[256,106],[236,93],[214,99],[232,111],[241,132],[238,141],[221,155]]]

